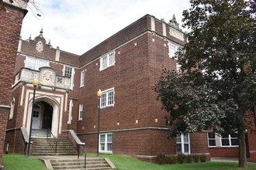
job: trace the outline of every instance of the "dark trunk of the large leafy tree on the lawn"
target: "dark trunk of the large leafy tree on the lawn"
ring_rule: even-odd
[[[238,129],[238,142],[239,142],[239,167],[247,168],[245,132],[243,128]]]

